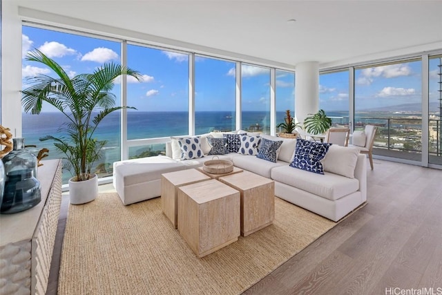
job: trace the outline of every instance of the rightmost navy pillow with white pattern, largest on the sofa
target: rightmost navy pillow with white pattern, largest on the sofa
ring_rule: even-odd
[[[293,161],[289,166],[297,169],[324,174],[324,167],[320,160],[325,158],[331,144],[311,142],[309,140],[296,140],[296,150]]]

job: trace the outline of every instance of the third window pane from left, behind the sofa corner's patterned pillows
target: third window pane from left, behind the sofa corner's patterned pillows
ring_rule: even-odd
[[[236,63],[195,57],[195,134],[235,130]]]

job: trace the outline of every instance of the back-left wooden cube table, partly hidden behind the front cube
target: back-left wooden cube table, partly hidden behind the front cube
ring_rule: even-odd
[[[161,175],[161,207],[164,215],[171,220],[175,229],[178,225],[178,187],[210,179],[209,176],[196,169],[169,172]]]

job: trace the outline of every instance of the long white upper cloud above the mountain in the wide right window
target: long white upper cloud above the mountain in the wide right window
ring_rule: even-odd
[[[376,77],[395,78],[409,76],[412,69],[408,64],[391,64],[388,66],[376,66],[375,68],[364,68],[356,80],[356,84],[370,85]]]

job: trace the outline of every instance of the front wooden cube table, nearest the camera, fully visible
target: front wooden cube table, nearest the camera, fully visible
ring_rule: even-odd
[[[197,257],[238,240],[240,193],[218,180],[178,189],[178,231]]]

